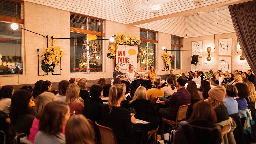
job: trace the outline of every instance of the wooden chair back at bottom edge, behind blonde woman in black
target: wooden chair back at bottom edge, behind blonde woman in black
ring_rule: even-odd
[[[100,137],[99,141],[101,144],[118,144],[116,135],[114,134],[111,128],[99,125],[96,121],[95,121],[95,125],[99,130],[99,137]]]

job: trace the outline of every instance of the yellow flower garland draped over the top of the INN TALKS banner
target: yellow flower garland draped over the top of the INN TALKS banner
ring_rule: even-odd
[[[142,47],[140,46],[141,41],[137,39],[137,37],[133,37],[132,35],[125,35],[124,33],[113,35],[112,36],[114,40],[114,44],[110,44],[108,47],[108,58],[114,59],[114,56],[116,55],[115,52],[115,44],[121,44],[121,45],[130,45],[130,46],[138,46],[138,58],[137,62],[139,62],[143,52]]]

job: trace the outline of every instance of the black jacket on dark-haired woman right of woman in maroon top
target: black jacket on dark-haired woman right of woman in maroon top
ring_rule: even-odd
[[[97,121],[101,124],[101,111],[103,107],[103,101],[101,98],[91,97],[84,105],[84,116],[91,121]]]

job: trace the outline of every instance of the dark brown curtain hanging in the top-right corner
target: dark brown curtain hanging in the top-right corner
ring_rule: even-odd
[[[228,8],[242,52],[256,74],[256,0]]]

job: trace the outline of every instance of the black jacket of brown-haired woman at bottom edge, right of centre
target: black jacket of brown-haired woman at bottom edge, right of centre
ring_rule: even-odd
[[[221,144],[221,132],[207,121],[195,121],[178,128],[172,144]]]

